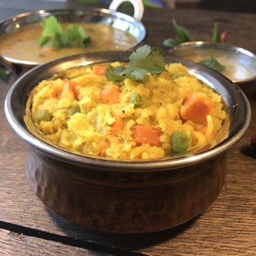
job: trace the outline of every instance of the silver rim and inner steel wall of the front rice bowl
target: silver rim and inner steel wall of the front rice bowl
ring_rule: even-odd
[[[230,120],[225,123],[225,129],[223,131],[224,136],[228,134],[225,140],[221,141],[216,147],[211,148],[200,154],[193,155],[194,152],[185,152],[182,154],[175,154],[175,156],[166,157],[161,161],[108,161],[100,159],[95,161],[92,157],[77,156],[70,152],[63,152],[59,148],[49,145],[40,138],[36,138],[31,132],[28,131],[26,124],[24,123],[23,116],[25,115],[26,101],[28,100],[28,93],[31,92],[33,87],[40,81],[47,77],[51,77],[54,74],[65,70],[70,67],[79,67],[81,65],[90,65],[93,63],[111,62],[111,61],[128,61],[130,52],[92,52],[86,54],[78,54],[74,56],[68,56],[59,60],[54,60],[40,67],[33,68],[24,76],[20,77],[10,88],[8,95],[6,96],[6,116],[12,125],[15,132],[17,132],[25,141],[39,150],[43,150],[45,153],[54,156],[61,161],[83,163],[95,165],[97,168],[103,167],[115,167],[125,170],[131,170],[133,168],[141,170],[155,170],[164,168],[179,168],[184,165],[195,164],[211,157],[217,156],[221,152],[227,150],[236,143],[241,136],[243,136],[248,124],[250,122],[250,104],[244,96],[243,92],[236,84],[226,79],[221,74],[214,72],[213,70],[197,65],[191,61],[177,59],[173,57],[166,57],[166,63],[180,62],[183,63],[189,70],[190,74],[195,75],[204,83],[209,84],[216,92],[218,92],[226,106]]]

